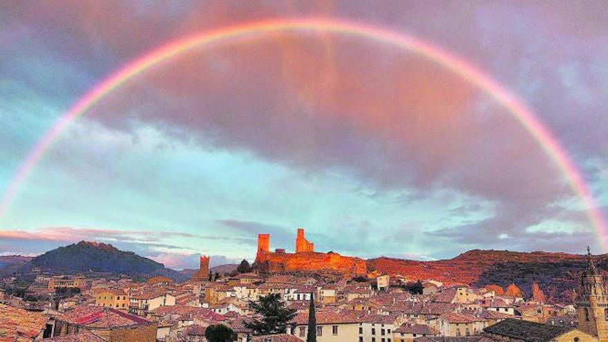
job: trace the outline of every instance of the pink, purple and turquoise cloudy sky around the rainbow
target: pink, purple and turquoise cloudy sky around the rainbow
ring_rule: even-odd
[[[0,2],[0,197],[105,77],[182,37],[348,20],[461,57],[529,106],[608,214],[602,1]],[[219,41],[140,73],[71,123],[0,216],[0,254],[97,240],[168,267],[294,249],[434,260],[604,252],[536,140],[487,93],[377,40],[296,30]]]

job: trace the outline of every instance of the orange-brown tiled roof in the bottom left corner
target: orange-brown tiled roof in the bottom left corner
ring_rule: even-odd
[[[0,304],[0,342],[32,341],[48,319],[39,312]]]

